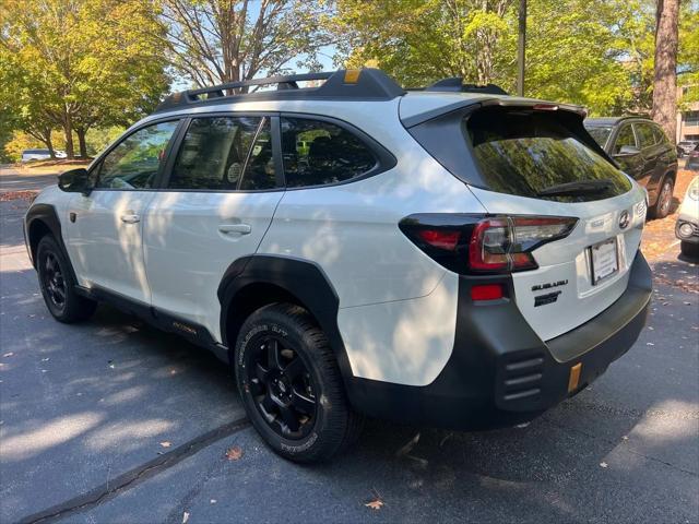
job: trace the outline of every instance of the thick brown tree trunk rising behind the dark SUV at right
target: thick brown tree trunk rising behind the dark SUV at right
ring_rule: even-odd
[[[677,20],[679,0],[657,0],[655,13],[655,76],[653,120],[672,143],[676,142],[677,112]]]

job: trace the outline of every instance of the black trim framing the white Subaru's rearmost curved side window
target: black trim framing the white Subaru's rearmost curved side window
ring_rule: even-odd
[[[395,158],[395,156],[393,156],[393,154],[389,152],[386,147],[383,147],[376,139],[374,139],[369,134],[362,131],[359,128],[353,126],[352,123],[345,120],[341,120],[335,117],[327,117],[324,115],[313,115],[309,112],[282,111],[280,114],[280,119],[279,119],[279,133],[280,133],[279,152],[280,152],[280,160],[282,162],[282,165],[284,160],[283,153],[282,153],[282,144],[281,144],[282,118],[318,120],[321,122],[328,122],[328,123],[337,126],[339,128],[344,129],[345,131],[357,136],[369,148],[369,151],[371,151],[371,153],[376,157],[376,164],[374,165],[374,167],[357,177],[352,177],[352,178],[348,178],[347,180],[341,180],[339,182],[332,182],[332,183],[317,183],[313,186],[300,186],[300,187],[294,187],[294,188],[286,187],[286,191],[301,191],[306,189],[334,188],[337,186],[345,186],[347,183],[358,182],[359,180],[366,180],[367,178],[371,178],[377,175],[380,175],[381,172],[386,172],[389,169],[394,168],[398,164],[398,159]],[[285,171],[283,172],[284,172],[284,178],[286,179],[286,172]]]

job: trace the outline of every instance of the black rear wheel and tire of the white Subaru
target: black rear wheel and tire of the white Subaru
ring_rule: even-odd
[[[328,340],[304,308],[273,303],[242,324],[233,366],[264,442],[289,461],[327,461],[352,444],[363,417],[346,400]]]

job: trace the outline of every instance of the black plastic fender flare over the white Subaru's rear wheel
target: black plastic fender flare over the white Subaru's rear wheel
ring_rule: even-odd
[[[253,284],[271,284],[296,297],[316,318],[340,366],[345,384],[353,377],[344,343],[337,327],[340,299],[325,272],[317,263],[293,257],[251,254],[234,261],[218,285],[221,336],[232,352],[235,341],[227,340],[227,319],[235,308],[236,295]],[[232,359],[233,361],[233,359]]]

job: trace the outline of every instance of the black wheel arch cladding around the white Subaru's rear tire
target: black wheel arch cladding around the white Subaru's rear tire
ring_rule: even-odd
[[[234,350],[238,330],[252,311],[280,301],[304,307],[328,337],[343,380],[352,368],[337,327],[340,299],[315,262],[291,257],[253,254],[234,261],[218,286],[221,334]]]

